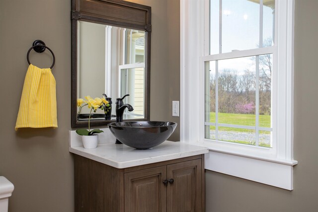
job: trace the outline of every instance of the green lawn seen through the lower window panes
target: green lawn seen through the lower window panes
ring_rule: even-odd
[[[215,112],[210,112],[210,122],[215,122]],[[237,114],[237,113],[222,113],[219,112],[218,117],[219,123],[226,124],[238,124],[246,126],[255,126],[255,115],[254,114]],[[270,115],[259,115],[259,126],[270,127]],[[214,126],[211,126],[213,129]],[[230,127],[219,127],[219,130],[224,131],[238,131],[238,132],[252,132],[254,130],[230,128]]]

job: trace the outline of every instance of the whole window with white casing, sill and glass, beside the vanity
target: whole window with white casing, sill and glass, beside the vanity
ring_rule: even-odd
[[[181,0],[181,141],[206,169],[293,189],[293,6]]]

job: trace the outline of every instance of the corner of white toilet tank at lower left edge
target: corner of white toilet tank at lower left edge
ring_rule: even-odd
[[[8,211],[9,197],[11,197],[13,190],[13,184],[5,177],[0,176],[0,212]]]

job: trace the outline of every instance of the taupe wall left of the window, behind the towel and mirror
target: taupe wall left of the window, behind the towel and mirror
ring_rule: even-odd
[[[168,23],[179,26],[179,1],[132,1],[152,6],[151,119],[178,122],[179,118],[172,118],[170,113],[171,101],[179,98],[179,34],[177,29],[173,29],[174,35],[167,30]],[[168,9],[168,6],[171,7]],[[176,14],[172,6],[177,6]],[[68,150],[70,11],[71,0],[0,0],[0,176],[5,176],[15,186],[9,199],[10,212],[74,211],[73,157]],[[168,20],[168,17],[176,19]],[[53,74],[57,82],[59,127],[15,132],[28,67],[26,53],[36,39],[43,40],[56,56]],[[172,39],[176,43],[170,43]],[[52,56],[32,51],[30,60],[39,67],[48,67]],[[177,130],[172,139],[178,138]]]

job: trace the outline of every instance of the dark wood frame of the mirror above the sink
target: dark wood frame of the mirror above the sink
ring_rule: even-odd
[[[88,121],[77,119],[77,60],[78,60],[78,20],[119,27],[144,30],[145,49],[145,116],[150,120],[150,47],[151,47],[151,7],[124,0],[72,0],[72,127],[87,127]],[[102,94],[100,94],[102,95]],[[115,98],[112,107],[115,108]],[[106,125],[114,120],[90,120],[90,126]]]

